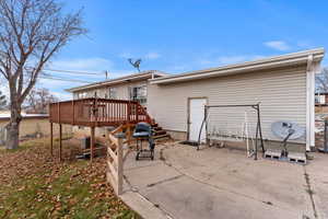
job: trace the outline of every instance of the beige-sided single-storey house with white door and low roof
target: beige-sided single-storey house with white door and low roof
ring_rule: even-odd
[[[317,48],[171,76],[145,71],[68,91],[74,99],[139,101],[157,124],[180,140],[207,138],[221,129],[225,135],[238,135],[245,122],[249,136],[255,135],[258,118],[251,107],[211,110],[206,115],[204,105],[259,104],[265,140],[281,141],[272,132],[272,124],[292,122],[304,135],[291,141],[311,150],[315,145],[315,73],[324,53]],[[210,122],[201,132],[206,117]]]

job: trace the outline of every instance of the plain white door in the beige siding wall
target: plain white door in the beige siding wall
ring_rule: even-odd
[[[198,141],[200,127],[203,120],[206,99],[190,99],[189,102],[189,140]],[[202,127],[200,140],[206,140],[206,129]]]

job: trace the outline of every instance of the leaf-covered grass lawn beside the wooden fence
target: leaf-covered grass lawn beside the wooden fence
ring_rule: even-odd
[[[105,159],[92,165],[84,160],[60,163],[46,142],[32,140],[15,151],[0,150],[1,219],[140,218],[106,183]]]

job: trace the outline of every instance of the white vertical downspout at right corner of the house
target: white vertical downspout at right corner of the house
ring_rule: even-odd
[[[311,147],[315,146],[315,74],[313,68],[313,55],[308,55],[306,66],[306,151],[311,151]]]

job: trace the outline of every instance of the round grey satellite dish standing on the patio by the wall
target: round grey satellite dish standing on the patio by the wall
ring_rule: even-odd
[[[305,135],[305,128],[300,127],[294,122],[279,120],[271,125],[271,131],[279,138],[297,139]]]

